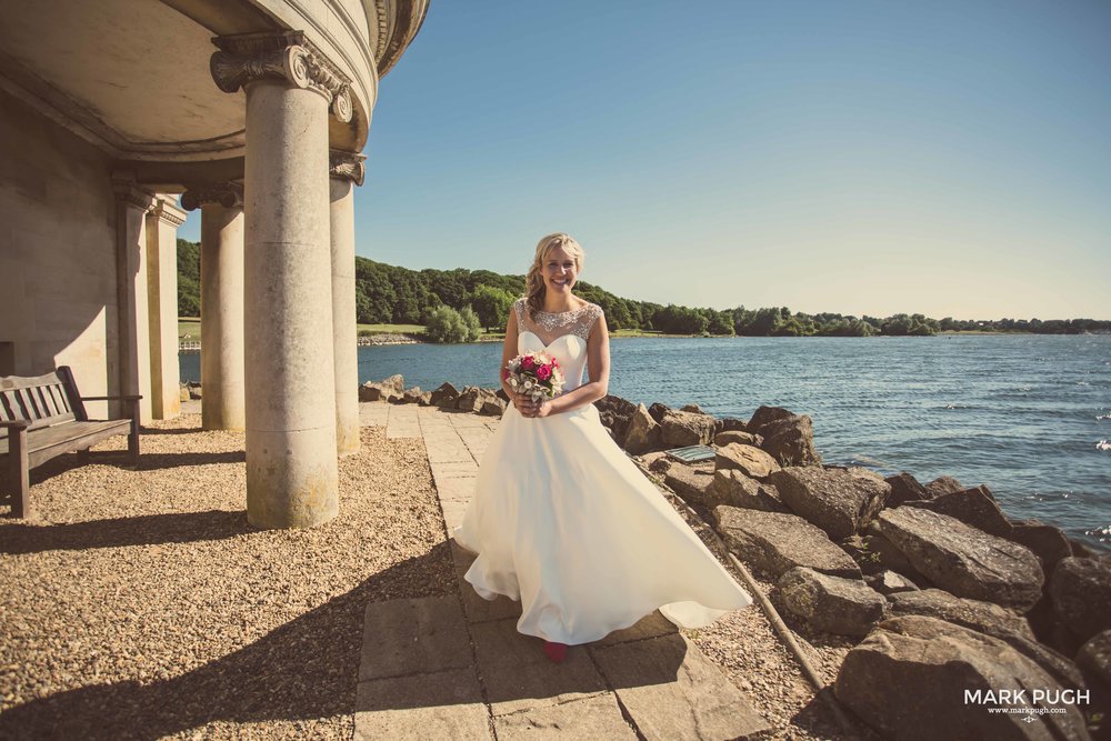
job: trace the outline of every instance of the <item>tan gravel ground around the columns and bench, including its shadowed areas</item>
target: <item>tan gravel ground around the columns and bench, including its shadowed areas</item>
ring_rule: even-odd
[[[256,531],[242,433],[199,427],[56,459],[0,519],[0,738],[351,738],[367,604],[456,589],[420,441],[364,428],[338,518]]]

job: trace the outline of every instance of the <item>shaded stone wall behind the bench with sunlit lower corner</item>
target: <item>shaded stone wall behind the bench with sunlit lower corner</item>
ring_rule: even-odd
[[[107,156],[0,92],[0,375],[70,366],[118,393],[116,206]],[[107,413],[103,402],[90,414]]]

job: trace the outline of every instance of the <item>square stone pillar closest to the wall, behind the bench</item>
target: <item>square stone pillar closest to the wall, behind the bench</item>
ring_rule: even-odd
[[[154,197],[131,180],[112,180],[116,192],[116,287],[119,393],[141,394],[139,419],[151,421],[150,327],[147,291],[147,213]],[[110,381],[111,382],[111,381]],[[110,413],[122,408],[113,403]]]

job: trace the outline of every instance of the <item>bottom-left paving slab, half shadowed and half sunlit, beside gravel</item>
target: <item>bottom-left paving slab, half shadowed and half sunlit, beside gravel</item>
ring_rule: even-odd
[[[474,667],[360,682],[354,738],[492,741]]]

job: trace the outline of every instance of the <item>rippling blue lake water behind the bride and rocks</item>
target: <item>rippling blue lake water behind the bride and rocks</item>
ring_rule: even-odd
[[[827,463],[985,483],[1008,515],[1111,550],[1111,336],[614,339],[610,392],[810,414]],[[182,354],[197,380],[197,354]],[[359,349],[359,380],[497,385],[500,343]]]

